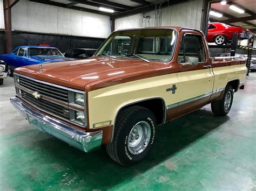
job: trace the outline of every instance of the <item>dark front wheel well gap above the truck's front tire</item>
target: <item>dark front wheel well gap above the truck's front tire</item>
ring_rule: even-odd
[[[124,108],[129,108],[134,105],[139,105],[140,107],[149,109],[154,114],[154,117],[156,117],[157,124],[158,125],[163,124],[164,117],[165,117],[165,104],[164,104],[164,101],[161,100],[160,98],[154,98],[151,100],[145,100],[142,102],[133,103],[133,104],[127,105]]]

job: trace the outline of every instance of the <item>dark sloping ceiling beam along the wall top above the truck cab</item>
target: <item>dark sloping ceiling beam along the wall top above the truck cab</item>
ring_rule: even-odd
[[[164,8],[166,6],[169,6],[169,5],[174,5],[174,4],[178,4],[178,3],[184,3],[184,2],[187,2],[188,0],[173,0],[173,1],[166,1],[166,2],[163,2],[163,3],[159,3],[159,4],[150,4],[150,5],[147,5],[147,6],[139,6],[137,8],[134,8],[133,10],[130,10],[130,11],[125,11],[125,12],[121,12],[121,13],[116,13],[116,14],[113,14],[110,16],[111,19],[116,19],[116,18],[119,18],[119,17],[126,17],[126,16],[129,16],[129,15],[135,15],[135,14],[138,14],[138,13],[143,13],[143,12],[148,12],[148,11],[152,11],[154,9],[159,9],[159,6],[161,5],[161,8]]]

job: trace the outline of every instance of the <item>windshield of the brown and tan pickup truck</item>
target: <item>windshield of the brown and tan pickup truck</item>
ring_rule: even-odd
[[[95,56],[107,54],[132,59],[140,59],[140,56],[147,60],[166,62],[172,58],[176,38],[176,31],[170,29],[117,31]]]

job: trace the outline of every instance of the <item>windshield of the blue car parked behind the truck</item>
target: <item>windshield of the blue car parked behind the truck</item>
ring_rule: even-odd
[[[28,48],[29,56],[63,56],[57,48]]]

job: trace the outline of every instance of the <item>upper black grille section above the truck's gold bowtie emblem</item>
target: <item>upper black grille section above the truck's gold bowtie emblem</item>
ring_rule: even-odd
[[[50,98],[54,98],[55,100],[68,102],[68,90],[58,88],[55,86],[50,86],[48,84],[44,84],[37,81],[32,81],[30,79],[26,79],[25,77],[19,77],[20,86],[23,86],[32,91],[38,91],[39,94],[43,96],[47,96]]]

